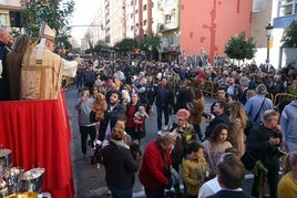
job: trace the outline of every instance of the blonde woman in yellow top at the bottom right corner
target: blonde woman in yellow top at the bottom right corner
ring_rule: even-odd
[[[297,197],[297,150],[286,157],[284,176],[277,186],[278,198]]]

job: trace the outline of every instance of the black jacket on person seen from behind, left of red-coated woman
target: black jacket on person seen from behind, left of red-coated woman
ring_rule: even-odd
[[[101,154],[106,171],[105,180],[107,186],[124,189],[132,188],[140,161],[133,158],[130,149],[110,140],[110,145],[103,147]]]

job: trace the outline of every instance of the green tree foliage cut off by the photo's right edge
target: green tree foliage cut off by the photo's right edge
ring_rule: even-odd
[[[293,21],[285,30],[283,38],[284,48],[297,48],[297,21]]]

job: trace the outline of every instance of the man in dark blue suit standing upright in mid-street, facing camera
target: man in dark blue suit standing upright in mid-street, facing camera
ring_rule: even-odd
[[[156,119],[157,129],[162,129],[162,113],[164,113],[165,125],[170,122],[170,108],[173,107],[174,93],[172,88],[167,85],[167,80],[162,77],[160,85],[155,88],[155,105],[156,105]]]

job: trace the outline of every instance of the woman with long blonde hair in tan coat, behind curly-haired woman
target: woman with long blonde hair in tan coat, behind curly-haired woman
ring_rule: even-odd
[[[245,143],[244,143],[244,129],[247,124],[247,116],[244,110],[244,105],[240,102],[232,102],[229,104],[229,114],[231,114],[231,144],[233,147],[237,148],[239,152],[239,157],[245,153]]]

